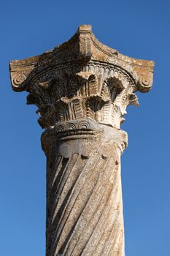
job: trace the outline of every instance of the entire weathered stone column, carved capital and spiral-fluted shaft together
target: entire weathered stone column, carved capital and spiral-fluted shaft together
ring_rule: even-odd
[[[123,56],[80,26],[68,42],[10,62],[12,89],[38,107],[47,156],[46,256],[124,256],[120,129],[153,62]]]

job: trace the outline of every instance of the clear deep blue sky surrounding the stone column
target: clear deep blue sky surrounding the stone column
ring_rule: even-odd
[[[170,255],[170,1],[1,1],[0,255],[45,256],[45,155],[36,107],[12,91],[8,63],[66,41],[80,24],[120,53],[155,61],[152,91],[138,94],[123,129],[125,251]]]

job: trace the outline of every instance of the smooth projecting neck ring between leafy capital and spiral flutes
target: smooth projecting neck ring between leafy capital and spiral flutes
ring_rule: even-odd
[[[47,155],[47,152],[53,150],[52,148],[55,148],[56,145],[69,140],[75,140],[75,143],[81,143],[82,140],[87,143],[93,141],[93,144],[97,144],[99,141],[107,144],[112,143],[122,153],[127,146],[128,135],[121,129],[115,129],[106,124],[99,124],[90,119],[58,122],[54,127],[50,127],[43,132],[42,149]],[[69,155],[73,154],[69,146],[64,151]],[[81,146],[80,151],[81,154],[86,155]]]

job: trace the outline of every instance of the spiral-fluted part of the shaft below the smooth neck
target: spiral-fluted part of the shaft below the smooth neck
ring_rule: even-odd
[[[47,256],[123,256],[120,166],[97,150],[56,157],[47,195]]]

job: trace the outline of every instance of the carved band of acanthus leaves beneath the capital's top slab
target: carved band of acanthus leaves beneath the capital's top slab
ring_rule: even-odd
[[[103,69],[104,70],[104,69]],[[108,73],[108,71],[107,71]],[[107,78],[108,77],[108,78]],[[101,72],[63,72],[50,80],[30,86],[27,104],[35,104],[42,117],[43,128],[58,121],[90,118],[120,128],[125,108],[137,105],[134,86],[129,80],[120,80],[120,74]]]

